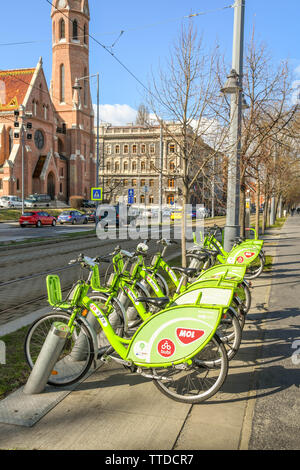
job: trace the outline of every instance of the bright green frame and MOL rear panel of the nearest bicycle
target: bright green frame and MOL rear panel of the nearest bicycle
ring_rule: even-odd
[[[47,277],[49,301],[61,298],[57,275]],[[68,327],[73,332],[77,316],[85,319],[90,311],[102,328],[107,340],[127,365],[144,368],[173,367],[190,364],[191,359],[211,340],[221,321],[222,308],[213,305],[186,305],[167,308],[142,323],[132,339],[122,338],[113,330],[108,316],[87,295],[90,285],[80,281],[73,301]],[[60,291],[60,292],[59,292]],[[57,308],[63,309],[62,304]],[[91,328],[85,322],[89,331]],[[94,348],[98,347],[92,332]]]

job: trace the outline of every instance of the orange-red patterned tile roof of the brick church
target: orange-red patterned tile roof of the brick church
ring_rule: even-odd
[[[13,111],[23,104],[35,70],[0,71],[0,112]]]

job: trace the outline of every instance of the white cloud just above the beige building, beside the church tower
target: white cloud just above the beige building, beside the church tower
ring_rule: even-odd
[[[94,105],[94,112],[96,120],[96,105]],[[127,104],[101,104],[99,115],[102,122],[109,122],[113,126],[126,126],[128,123],[135,122],[137,111]]]

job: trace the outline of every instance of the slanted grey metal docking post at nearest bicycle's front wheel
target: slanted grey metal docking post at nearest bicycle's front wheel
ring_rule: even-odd
[[[26,395],[38,394],[45,389],[68,334],[69,328],[67,325],[61,322],[53,323],[24,387],[23,392]]]

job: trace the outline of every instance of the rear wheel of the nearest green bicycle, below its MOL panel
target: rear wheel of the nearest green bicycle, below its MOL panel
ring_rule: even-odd
[[[226,350],[218,335],[192,358],[187,369],[153,369],[155,386],[166,396],[183,403],[201,403],[215,395],[228,373]]]

